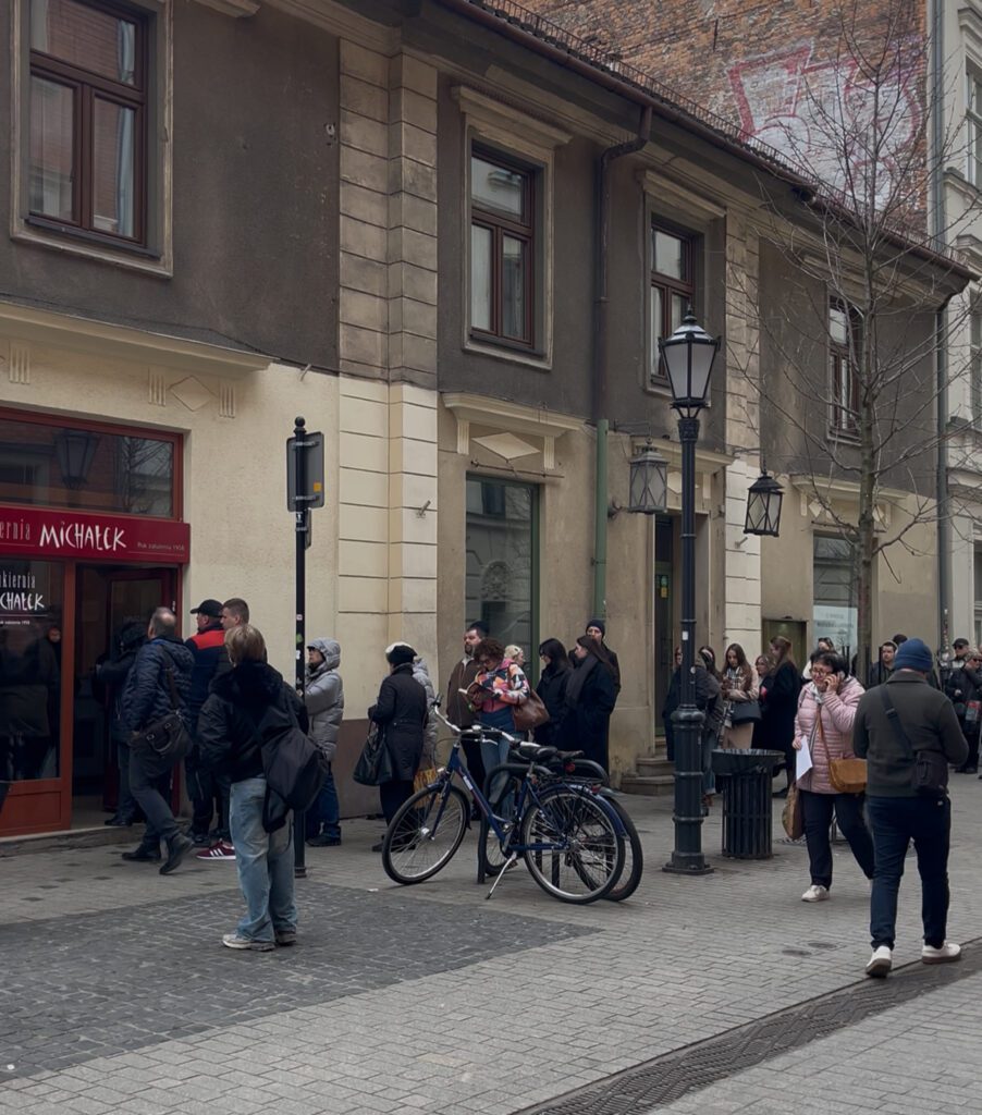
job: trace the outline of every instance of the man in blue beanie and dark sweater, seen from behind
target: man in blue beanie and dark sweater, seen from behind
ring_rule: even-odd
[[[947,764],[964,763],[969,748],[952,702],[927,683],[933,666],[931,649],[921,639],[905,640],[889,678],[861,697],[853,724],[853,750],[868,764],[866,811],[876,860],[867,976],[882,978],[893,967],[897,894],[912,840],[921,875],[921,959],[940,964],[957,960],[962,952],[945,939],[951,841]],[[930,760],[930,753],[934,753],[932,766],[937,774],[928,792],[916,785],[915,776],[918,758]]]

